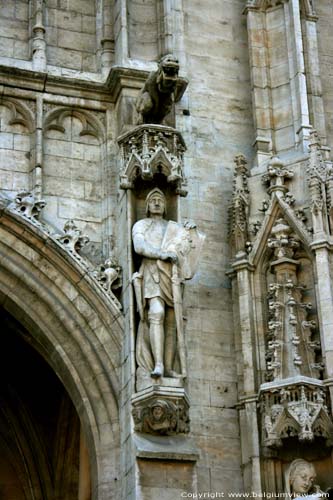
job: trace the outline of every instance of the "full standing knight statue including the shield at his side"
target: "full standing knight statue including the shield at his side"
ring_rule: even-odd
[[[204,236],[195,224],[167,221],[165,214],[166,198],[155,188],[146,198],[147,218],[132,230],[134,250],[142,257],[133,275],[140,315],[136,360],[151,377],[184,378],[182,284],[194,275]]]

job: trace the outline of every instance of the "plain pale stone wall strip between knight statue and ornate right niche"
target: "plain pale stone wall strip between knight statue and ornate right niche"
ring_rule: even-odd
[[[241,491],[237,373],[229,267],[227,210],[233,158],[251,158],[244,2],[184,2],[190,116],[177,126],[188,146],[189,194],[183,218],[206,234],[198,275],[186,288],[191,429],[200,448],[198,491]],[[181,105],[180,105],[181,108]]]

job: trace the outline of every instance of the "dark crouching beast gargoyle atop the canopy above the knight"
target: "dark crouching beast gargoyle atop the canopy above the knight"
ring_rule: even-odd
[[[148,76],[137,101],[137,125],[162,123],[171,111],[178,82],[179,63],[171,54],[160,60],[157,71]]]

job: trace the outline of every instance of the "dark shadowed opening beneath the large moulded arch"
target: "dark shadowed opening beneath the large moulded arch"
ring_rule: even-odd
[[[77,500],[78,414],[24,327],[5,309],[0,323],[0,498]]]

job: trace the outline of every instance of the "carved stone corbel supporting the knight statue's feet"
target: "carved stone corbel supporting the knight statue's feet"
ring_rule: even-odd
[[[188,433],[189,401],[184,392],[167,392],[155,388],[138,394],[132,400],[134,428],[155,435]]]

